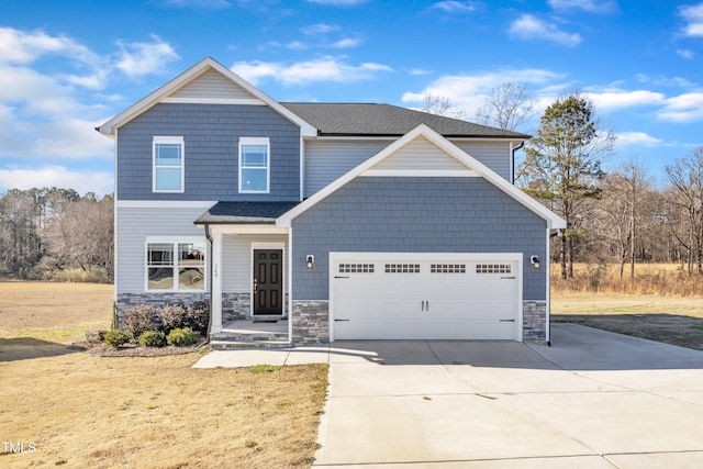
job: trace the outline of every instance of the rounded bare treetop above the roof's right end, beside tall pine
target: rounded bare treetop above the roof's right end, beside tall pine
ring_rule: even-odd
[[[537,114],[537,101],[523,85],[503,83],[491,89],[483,107],[476,111],[480,124],[514,131]]]

